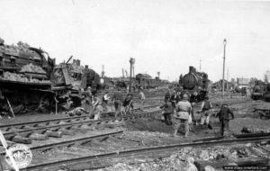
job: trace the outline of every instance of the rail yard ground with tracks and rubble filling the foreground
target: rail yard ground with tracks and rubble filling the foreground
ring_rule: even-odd
[[[211,117],[212,130],[193,125],[190,135],[182,138],[172,137],[173,127],[163,121],[158,106],[165,91],[147,91],[143,112],[135,103],[132,114],[115,118],[111,107],[112,111],[96,121],[87,114],[26,113],[2,118],[0,129],[9,144],[23,143],[31,149],[31,164],[20,170],[187,170],[190,157],[198,170],[205,166],[264,170],[269,166],[270,121],[254,112],[258,107],[267,108],[268,103],[238,94],[228,93],[224,99],[209,94],[212,113],[218,112],[221,103],[229,103],[235,113],[229,122],[231,136],[220,137],[219,121]],[[196,120],[200,104],[194,105]],[[1,153],[4,156],[4,148]]]

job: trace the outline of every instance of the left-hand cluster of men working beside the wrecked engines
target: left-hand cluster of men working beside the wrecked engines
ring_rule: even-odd
[[[112,97],[109,96],[108,92],[105,92],[102,99],[100,99],[97,97],[97,94],[92,94],[92,88],[89,86],[86,90],[81,91],[81,96],[81,107],[77,109],[90,113],[94,116],[94,120],[99,120],[103,112],[112,112],[112,103],[114,104],[115,117],[131,112],[130,109],[134,107],[133,94],[122,94],[120,89],[118,89]],[[139,89],[139,109],[141,111],[143,110],[144,101],[145,95],[142,90]],[[109,106],[111,106],[111,109]]]

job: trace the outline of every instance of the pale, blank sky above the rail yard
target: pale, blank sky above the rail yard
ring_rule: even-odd
[[[263,78],[270,70],[270,2],[182,0],[1,0],[0,37],[41,47],[57,62],[71,55],[106,76],[148,73],[175,80],[189,66],[216,81]]]

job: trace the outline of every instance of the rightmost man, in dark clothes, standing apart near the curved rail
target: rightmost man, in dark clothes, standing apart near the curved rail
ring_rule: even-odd
[[[229,133],[229,114],[233,120],[234,114],[230,111],[228,104],[222,104],[220,112],[216,114],[216,117],[220,119],[220,136],[224,136],[224,134],[227,136]]]

